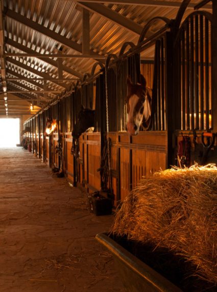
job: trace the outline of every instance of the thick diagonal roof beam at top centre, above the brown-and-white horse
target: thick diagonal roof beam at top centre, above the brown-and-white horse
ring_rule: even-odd
[[[141,34],[143,27],[133,20],[111,10],[110,8],[106,7],[103,4],[97,3],[87,3],[87,2],[77,2],[79,6],[86,8],[94,13],[99,14],[100,16],[105,17],[106,19],[110,20],[111,22],[122,26],[136,34]]]

